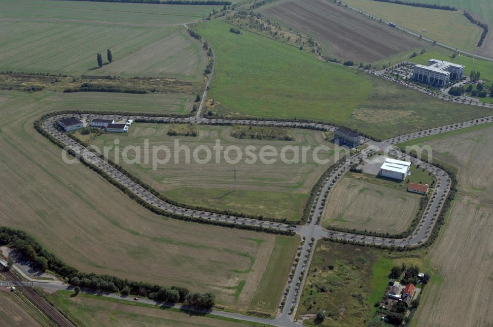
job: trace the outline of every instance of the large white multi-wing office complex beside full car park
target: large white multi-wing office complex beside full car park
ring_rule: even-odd
[[[462,79],[464,67],[463,65],[430,59],[427,66],[414,66],[413,78],[424,83],[446,86],[450,81]]]

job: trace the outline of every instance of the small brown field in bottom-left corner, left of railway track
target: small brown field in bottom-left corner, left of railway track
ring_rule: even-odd
[[[28,307],[8,288],[0,290],[0,326],[26,327],[44,326],[39,324],[31,315],[32,308]]]

